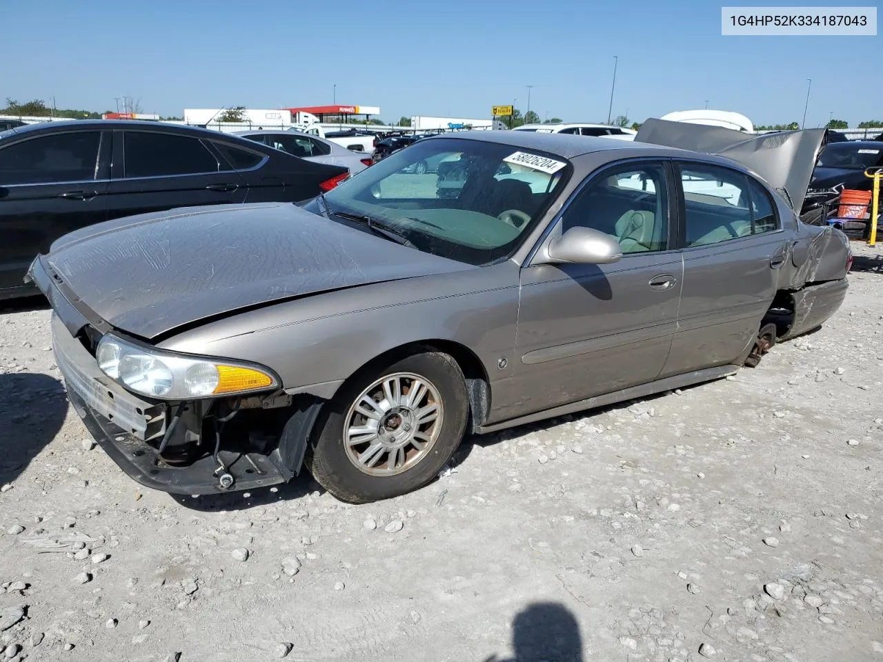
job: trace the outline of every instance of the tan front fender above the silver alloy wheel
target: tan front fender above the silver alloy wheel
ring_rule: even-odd
[[[515,344],[517,311],[518,267],[507,261],[283,302],[185,331],[159,346],[267,365],[290,393],[328,398],[374,357],[442,340],[471,350],[493,389],[509,377],[497,362]]]

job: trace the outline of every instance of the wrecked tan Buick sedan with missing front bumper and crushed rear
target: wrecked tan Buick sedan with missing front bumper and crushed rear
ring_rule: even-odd
[[[365,502],[426,485],[466,434],[757,365],[847,292],[846,237],[795,214],[824,132],[688,151],[653,144],[669,124],[442,135],[304,205],[63,237],[28,277],[71,401],[142,485],[306,466]],[[415,172],[429,160],[442,176]]]

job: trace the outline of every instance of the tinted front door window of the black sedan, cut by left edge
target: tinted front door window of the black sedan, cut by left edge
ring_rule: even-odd
[[[67,132],[0,149],[0,185],[82,182],[95,178],[101,132]]]

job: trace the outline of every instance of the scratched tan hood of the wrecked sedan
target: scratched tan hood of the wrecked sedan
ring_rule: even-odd
[[[57,240],[43,261],[95,314],[146,339],[283,299],[468,268],[291,203],[99,223]]]

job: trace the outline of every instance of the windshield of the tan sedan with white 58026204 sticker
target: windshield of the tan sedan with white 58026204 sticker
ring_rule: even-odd
[[[419,140],[325,194],[329,214],[366,216],[421,251],[508,259],[555,199],[570,164],[483,140]]]

